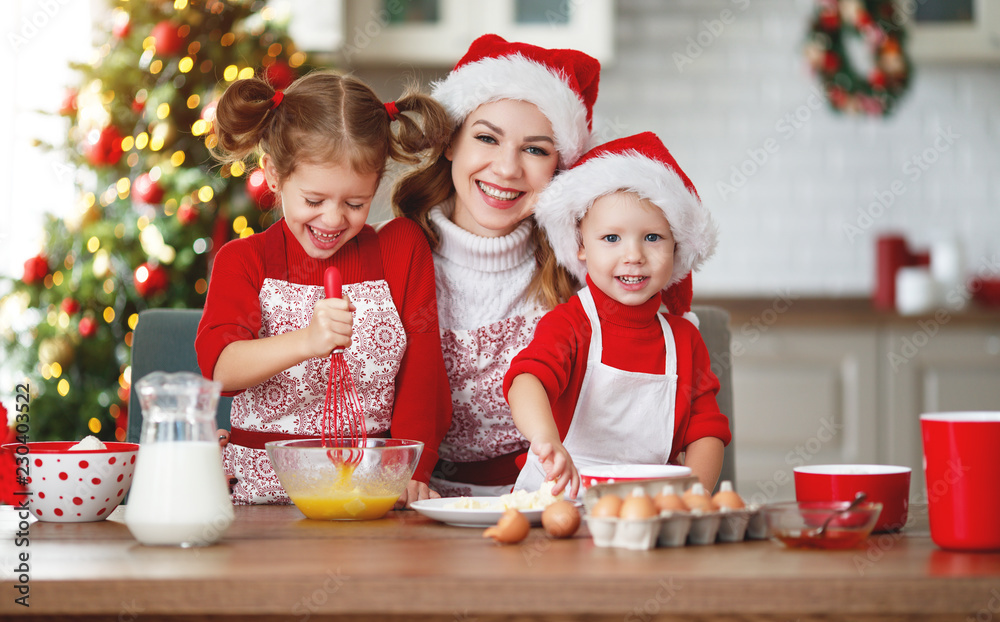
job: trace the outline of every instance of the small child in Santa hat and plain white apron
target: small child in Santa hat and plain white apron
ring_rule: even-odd
[[[715,487],[729,421],[690,311],[688,276],[716,230],[691,181],[652,133],[587,153],[542,193],[535,217],[559,263],[587,286],[542,318],[504,395],[531,442],[515,489],[555,480],[576,496],[581,466],[684,462]],[[661,290],[674,305],[659,313]]]

